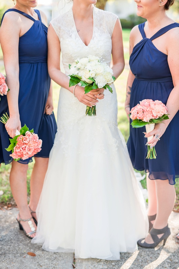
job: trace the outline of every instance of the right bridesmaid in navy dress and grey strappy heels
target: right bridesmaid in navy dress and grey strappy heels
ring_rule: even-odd
[[[146,134],[145,127],[132,128],[128,150],[137,170],[147,172],[149,193],[149,234],[138,244],[153,248],[170,235],[168,218],[175,203],[175,177],[179,176],[179,24],[166,15],[175,0],[134,0],[137,15],[147,19],[130,34],[130,68],[127,83],[126,114],[143,99],[160,100],[168,108],[169,119],[155,124]],[[142,59],[142,60],[141,60]],[[147,139],[155,146],[156,159],[145,159]],[[160,140],[160,141],[159,141]]]

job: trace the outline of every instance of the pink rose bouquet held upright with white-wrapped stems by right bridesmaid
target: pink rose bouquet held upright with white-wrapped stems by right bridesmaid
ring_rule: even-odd
[[[166,106],[158,100],[144,99],[140,101],[130,111],[130,118],[132,119],[132,127],[146,127],[146,133],[151,132],[155,128],[156,123],[163,122],[168,119]],[[154,136],[149,136],[147,141],[149,142]],[[156,159],[155,147],[151,148],[151,145],[147,145],[148,151],[146,159]]]

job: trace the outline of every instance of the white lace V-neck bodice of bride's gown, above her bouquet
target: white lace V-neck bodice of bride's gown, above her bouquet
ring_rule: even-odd
[[[77,58],[95,55],[102,57],[107,64],[110,64],[111,37],[117,18],[113,13],[93,7],[93,35],[88,46],[78,35],[72,8],[50,22],[60,40],[62,62],[67,75],[69,63],[72,64]]]

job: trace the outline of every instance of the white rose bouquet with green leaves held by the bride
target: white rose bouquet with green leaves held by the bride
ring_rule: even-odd
[[[84,86],[85,94],[98,88],[109,89],[112,93],[112,88],[109,84],[113,83],[115,80],[115,77],[112,76],[113,71],[107,63],[102,62],[100,58],[89,56],[77,59],[72,65],[69,64],[69,69],[69,87],[81,83],[81,86]],[[86,115],[95,116],[96,106],[87,106]]]

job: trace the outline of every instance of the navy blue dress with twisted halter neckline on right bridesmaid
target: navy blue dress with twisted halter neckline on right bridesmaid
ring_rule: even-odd
[[[135,75],[131,89],[130,109],[143,99],[160,100],[166,104],[174,87],[167,55],[159,51],[152,40],[172,28],[179,27],[179,24],[167,25],[150,39],[146,38],[144,25],[145,22],[139,25],[143,39],[133,48],[129,60],[131,71]],[[142,133],[145,131],[145,127],[132,128],[130,125],[127,147],[134,168],[149,172],[149,178],[152,180],[169,179],[169,184],[175,184],[175,177],[179,177],[179,111],[155,146],[156,159],[146,159],[147,138],[144,138]]]

